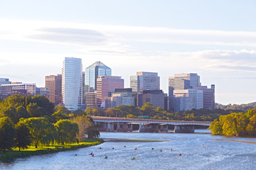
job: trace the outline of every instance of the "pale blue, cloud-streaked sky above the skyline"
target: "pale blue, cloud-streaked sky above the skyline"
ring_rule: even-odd
[[[0,2],[0,77],[45,86],[65,57],[122,76],[197,73],[215,102],[256,101],[256,1],[44,0]]]

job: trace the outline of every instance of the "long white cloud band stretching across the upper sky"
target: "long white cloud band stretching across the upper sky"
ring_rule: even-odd
[[[99,42],[126,45],[127,42],[147,42],[175,45],[256,47],[256,31],[183,30],[53,21],[7,21],[3,19],[0,19],[0,22],[0,38],[9,39],[68,42],[75,43],[75,45],[81,45],[81,43],[82,45],[90,43],[97,45]]]

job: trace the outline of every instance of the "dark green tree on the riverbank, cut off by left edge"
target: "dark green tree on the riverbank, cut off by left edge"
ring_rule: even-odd
[[[8,117],[0,118],[0,149],[6,154],[6,149],[14,147],[16,131],[14,123]]]

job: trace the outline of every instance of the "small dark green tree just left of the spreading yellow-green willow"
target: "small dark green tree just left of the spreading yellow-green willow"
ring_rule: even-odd
[[[28,148],[28,145],[31,145],[32,143],[32,137],[31,133],[29,132],[28,126],[19,122],[15,125],[15,129],[15,141],[18,147],[18,151],[21,151],[21,148]]]

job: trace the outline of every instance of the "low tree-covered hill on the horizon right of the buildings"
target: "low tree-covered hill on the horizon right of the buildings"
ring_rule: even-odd
[[[232,110],[241,110],[241,111],[247,111],[248,109],[256,108],[256,102],[247,103],[247,104],[228,104],[228,105],[222,105],[220,103],[215,103],[215,108],[222,108],[222,109],[232,109]]]

